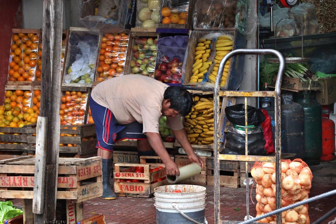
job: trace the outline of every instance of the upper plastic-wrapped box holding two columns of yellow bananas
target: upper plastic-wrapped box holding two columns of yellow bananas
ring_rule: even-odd
[[[186,88],[213,90],[221,59],[230,51],[237,49],[235,37],[234,31],[192,31],[184,55],[182,85]],[[229,86],[232,72],[230,68],[236,66],[233,65],[235,60],[235,57],[230,58],[224,66],[221,89],[239,88],[243,73],[236,74],[235,85]],[[242,64],[239,66],[242,67]]]

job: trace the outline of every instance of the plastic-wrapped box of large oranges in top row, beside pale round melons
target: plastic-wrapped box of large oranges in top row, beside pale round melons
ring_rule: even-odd
[[[184,25],[188,21],[189,1],[162,0],[161,24],[180,24]]]

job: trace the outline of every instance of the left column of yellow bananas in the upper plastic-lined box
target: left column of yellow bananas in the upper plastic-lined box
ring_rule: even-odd
[[[211,40],[200,39],[195,48],[195,62],[193,64],[193,75],[190,77],[189,83],[202,82],[204,73],[208,72],[212,61],[207,61],[210,56]]]

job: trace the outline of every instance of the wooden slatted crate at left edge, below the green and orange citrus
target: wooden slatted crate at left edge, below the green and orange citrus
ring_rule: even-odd
[[[27,129],[0,127],[0,151],[26,152],[28,149]]]

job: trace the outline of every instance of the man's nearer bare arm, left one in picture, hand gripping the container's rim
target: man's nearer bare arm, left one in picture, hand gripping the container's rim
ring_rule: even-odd
[[[167,175],[175,176],[176,174],[179,176],[180,171],[178,170],[175,162],[170,158],[170,155],[162,142],[160,134],[155,132],[146,132],[146,135],[150,145],[165,164]]]

